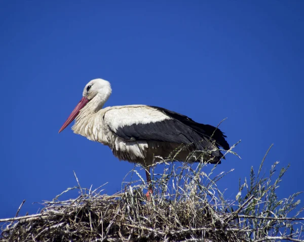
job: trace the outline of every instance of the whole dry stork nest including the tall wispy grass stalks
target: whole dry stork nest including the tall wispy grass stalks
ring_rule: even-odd
[[[140,167],[130,171],[123,192],[112,196],[103,187],[81,188],[77,179],[77,187],[45,202],[40,214],[0,219],[6,222],[0,241],[304,241],[302,209],[295,213],[299,193],[278,200],[286,169],[276,174],[276,162],[269,177],[261,177],[263,161],[257,174],[251,170],[249,182],[240,182],[235,201],[225,200],[216,186],[229,172],[217,173],[214,166],[206,174],[203,163],[164,160],[164,172],[153,177],[150,202]],[[60,201],[71,189],[80,196]],[[288,217],[291,211],[295,216]]]

